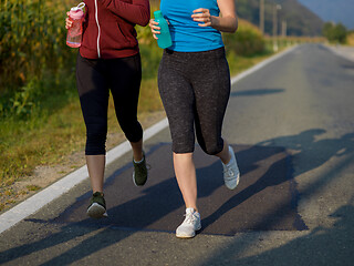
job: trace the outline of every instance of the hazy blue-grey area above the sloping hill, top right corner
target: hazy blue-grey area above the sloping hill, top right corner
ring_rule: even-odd
[[[354,30],[354,0],[298,0],[323,21],[333,21]]]

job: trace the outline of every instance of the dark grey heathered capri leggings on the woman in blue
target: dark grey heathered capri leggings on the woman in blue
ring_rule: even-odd
[[[223,48],[206,52],[164,51],[158,89],[175,153],[194,152],[195,129],[207,154],[222,151],[221,129],[230,88]]]

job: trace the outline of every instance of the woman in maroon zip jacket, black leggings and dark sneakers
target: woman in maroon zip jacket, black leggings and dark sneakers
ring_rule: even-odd
[[[133,149],[133,181],[147,180],[143,129],[137,121],[142,65],[135,24],[147,25],[148,0],[85,0],[76,85],[86,125],[86,163],[93,196],[87,215],[106,216],[103,196],[110,90],[118,123]],[[66,29],[72,21],[66,18]]]

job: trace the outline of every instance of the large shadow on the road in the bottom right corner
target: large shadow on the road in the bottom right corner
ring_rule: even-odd
[[[354,205],[344,205],[332,215],[336,223],[332,228],[315,227],[309,234],[298,237],[270,250],[240,258],[248,246],[263,245],[263,238],[253,236],[252,242],[238,237],[223,246],[199,265],[339,265],[352,266],[354,259]],[[252,237],[252,236],[251,236]],[[266,245],[266,244],[264,244]]]

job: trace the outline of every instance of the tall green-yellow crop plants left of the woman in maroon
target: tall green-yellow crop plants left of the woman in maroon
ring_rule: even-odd
[[[73,1],[1,1],[1,117],[27,116],[39,98],[62,90],[60,81],[70,75],[74,63],[73,50],[65,45],[69,3]]]

